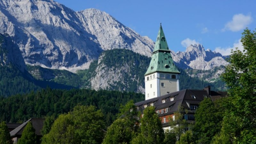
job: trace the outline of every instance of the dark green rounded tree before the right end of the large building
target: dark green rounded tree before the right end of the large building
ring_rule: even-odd
[[[213,136],[220,132],[221,122],[224,116],[222,103],[225,98],[215,101],[205,98],[195,113],[194,136],[197,143],[211,143]]]

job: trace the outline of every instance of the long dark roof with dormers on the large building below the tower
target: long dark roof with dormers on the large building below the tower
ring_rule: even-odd
[[[174,100],[171,101],[170,98],[174,97]],[[204,99],[204,97],[209,97],[206,90],[180,90],[172,92],[161,97],[155,97],[145,101],[135,103],[140,110],[144,110],[144,105],[150,106],[150,103],[154,102],[155,110],[161,110],[169,108],[167,113],[159,114],[168,115],[178,111],[179,105],[181,104],[183,108],[189,109],[189,104],[199,103]],[[165,100],[165,103],[162,103],[162,100]]]

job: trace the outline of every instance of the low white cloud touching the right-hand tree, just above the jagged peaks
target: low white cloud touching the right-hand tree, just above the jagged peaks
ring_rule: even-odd
[[[222,55],[230,55],[231,54],[231,49],[235,50],[236,47],[243,52],[244,50],[244,46],[242,46],[242,42],[241,39],[233,44],[233,47],[226,47],[226,48],[222,48],[222,47],[216,47],[214,51],[219,52]]]

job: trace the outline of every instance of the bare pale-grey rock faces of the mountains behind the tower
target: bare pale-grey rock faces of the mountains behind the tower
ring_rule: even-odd
[[[150,57],[154,48],[151,39],[140,36],[106,12],[73,11],[53,0],[0,0],[0,33],[9,35],[15,46],[9,59],[18,58],[13,61],[20,62],[17,65],[23,70],[26,63],[76,72],[89,68],[99,58],[100,63],[104,58],[101,53],[106,50],[127,49]],[[200,44],[171,54],[176,65],[183,69],[210,70],[227,64],[220,53],[205,50]],[[91,79],[92,88],[111,86],[104,83],[111,77],[108,80],[101,76],[115,75],[115,72],[101,67],[97,66],[96,77]],[[122,70],[119,72],[122,74]],[[143,86],[138,86],[138,91],[143,91]]]

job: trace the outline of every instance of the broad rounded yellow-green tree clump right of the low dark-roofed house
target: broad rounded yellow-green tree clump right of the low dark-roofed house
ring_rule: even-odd
[[[76,106],[72,112],[61,114],[42,143],[101,143],[105,123],[103,113],[95,106]]]

